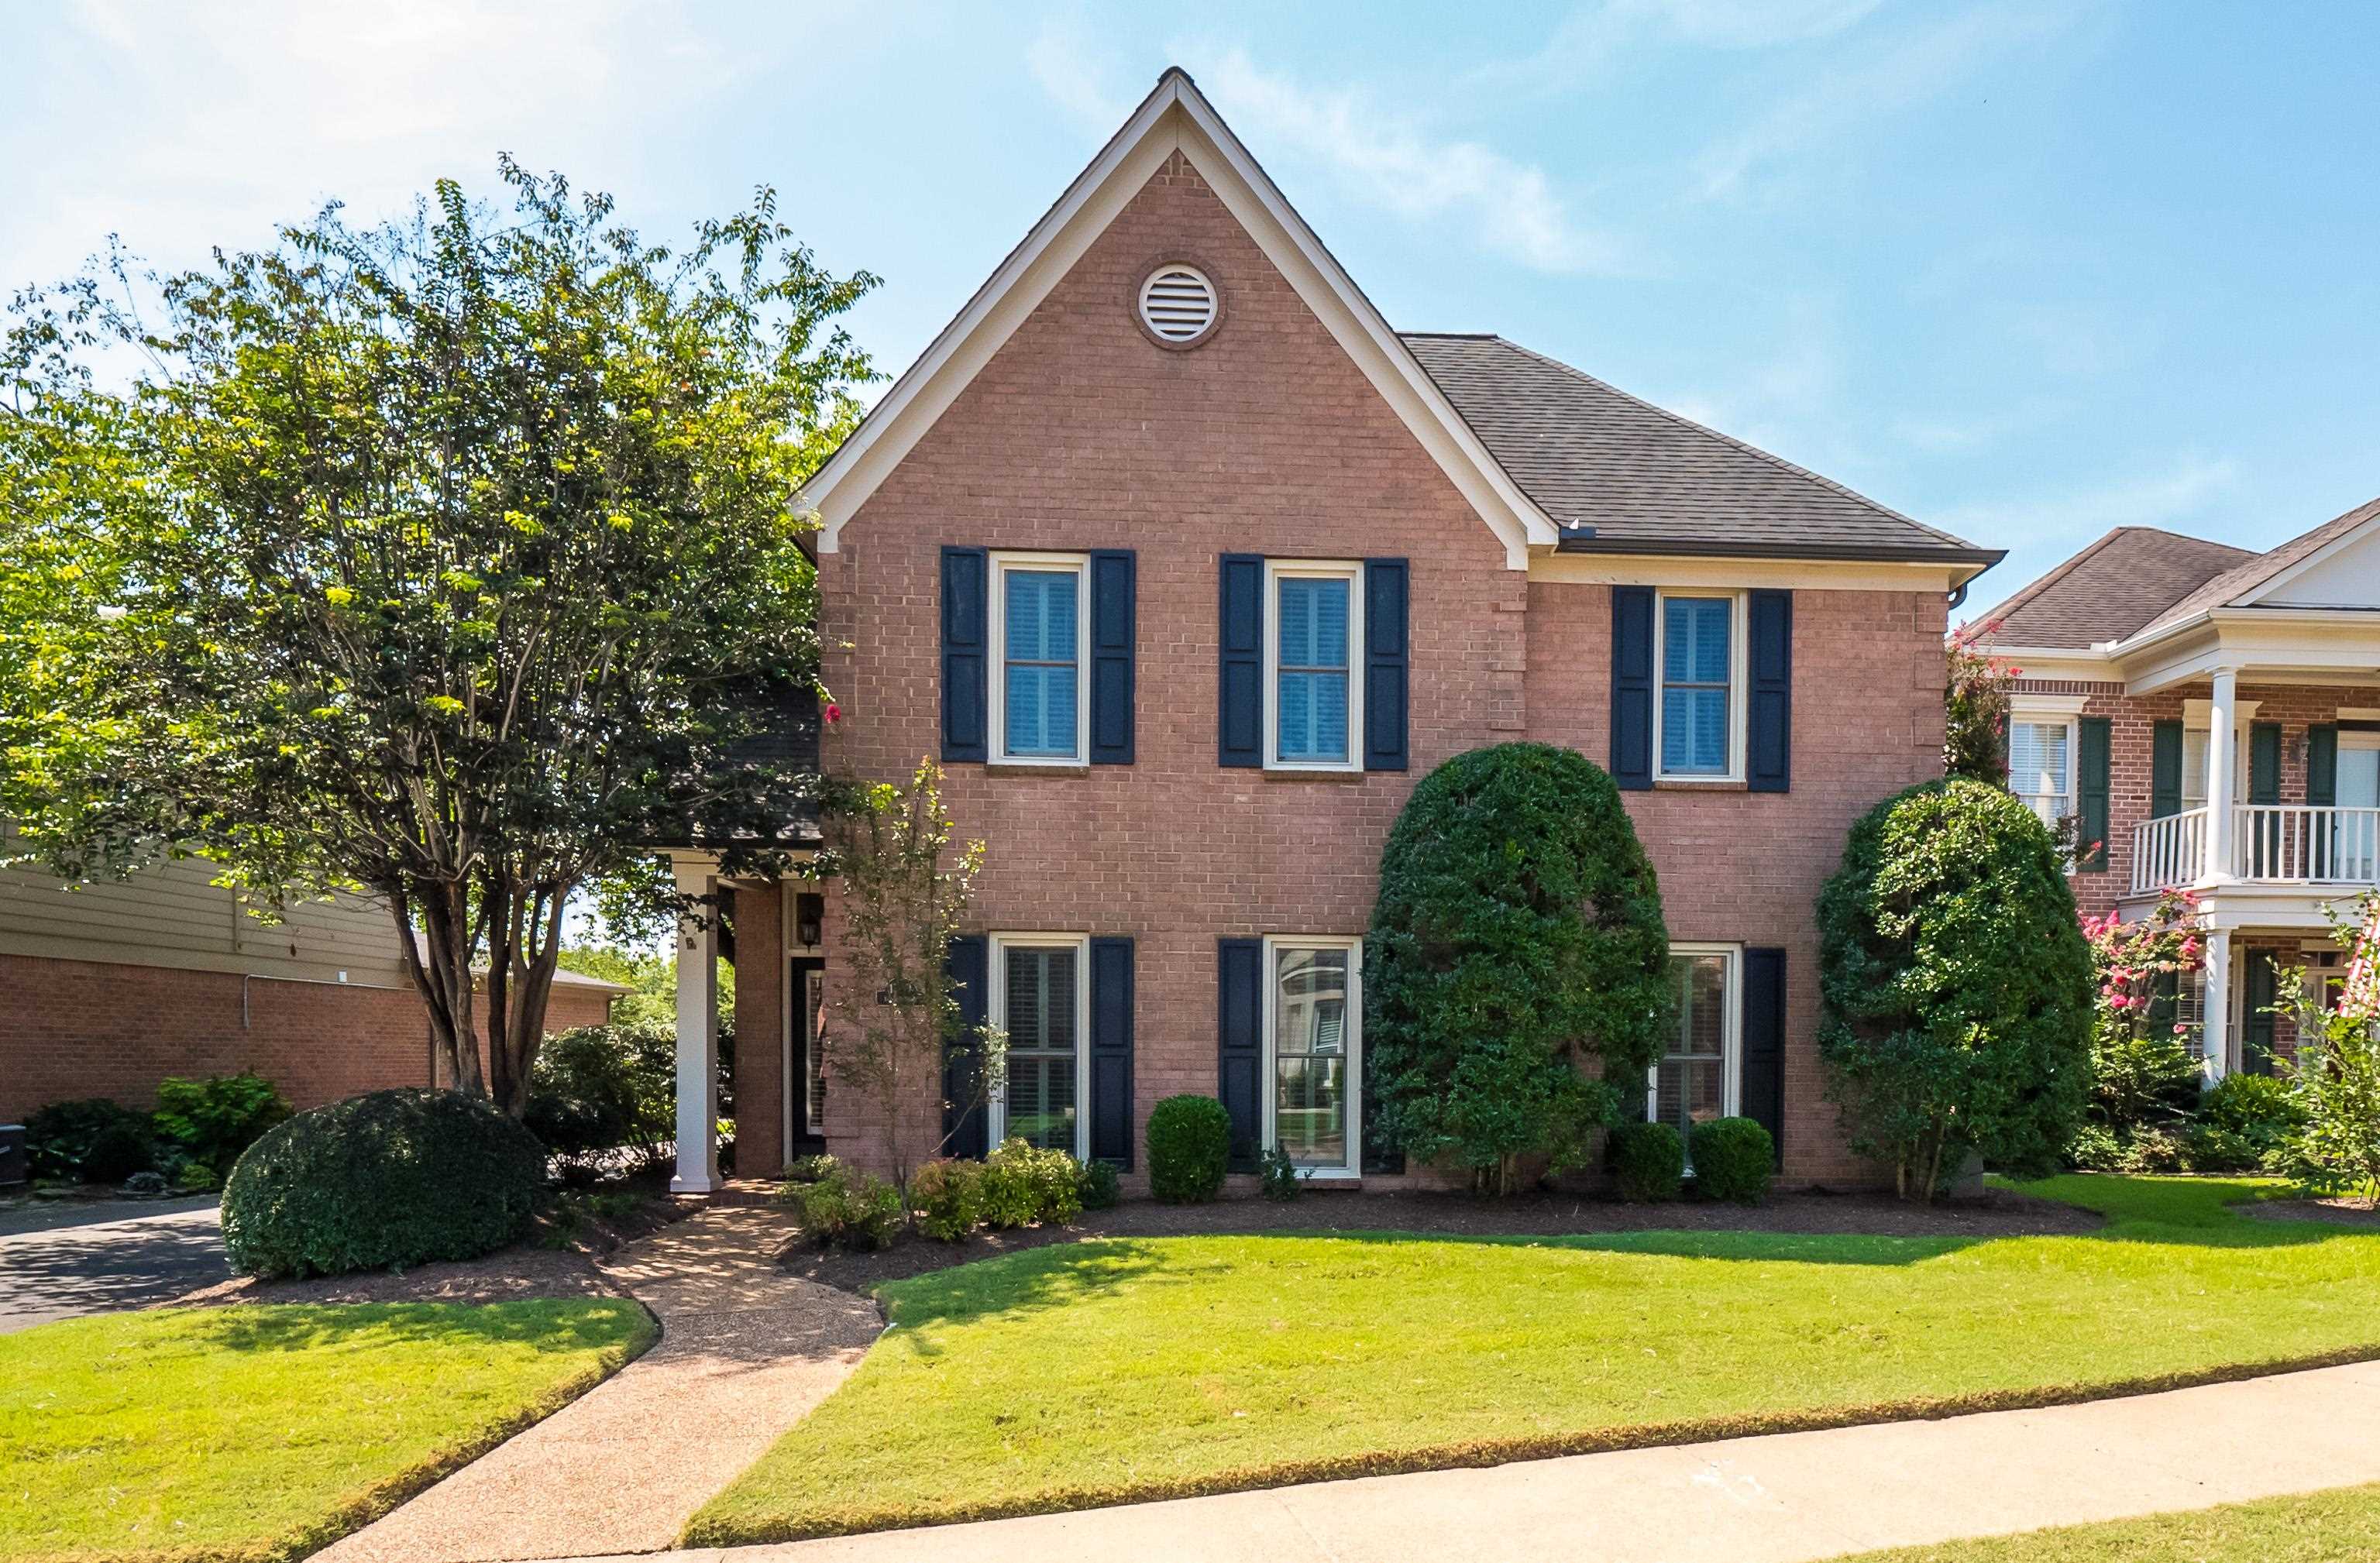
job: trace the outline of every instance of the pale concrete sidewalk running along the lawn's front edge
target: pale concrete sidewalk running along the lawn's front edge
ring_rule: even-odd
[[[674,1563],[1809,1563],[2380,1480],[2380,1363],[2049,1411],[674,1553]]]

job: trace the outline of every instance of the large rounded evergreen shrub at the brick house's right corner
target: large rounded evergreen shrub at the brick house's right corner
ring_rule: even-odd
[[[2082,1123],[2090,949],[2049,828],[1999,787],[1923,783],[1852,826],[1818,992],[1828,1094],[1906,1199],[1968,1151],[2049,1168]]]

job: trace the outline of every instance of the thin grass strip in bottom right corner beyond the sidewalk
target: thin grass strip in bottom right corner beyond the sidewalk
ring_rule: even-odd
[[[2380,1487],[2225,1504],[2147,1520],[2063,1525],[2021,1537],[1864,1551],[1840,1563],[2370,1563]]]

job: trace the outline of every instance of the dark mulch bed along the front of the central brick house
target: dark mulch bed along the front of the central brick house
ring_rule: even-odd
[[[1576,1194],[1471,1199],[1435,1192],[1309,1192],[1295,1201],[1228,1199],[1154,1204],[1135,1199],[1085,1211],[1071,1228],[976,1232],[964,1242],[907,1235],[890,1249],[843,1254],[793,1244],[788,1275],[869,1294],[888,1280],[1085,1237],[1223,1237],[1247,1232],[1445,1232],[1452,1237],[1568,1237],[1583,1232],[1847,1232],[1866,1237],[2056,1237],[2097,1232],[2102,1218],[2054,1199],[1994,1189],[1983,1199],[1914,1206],[1890,1194],[1771,1194],[1759,1206],[1618,1204]]]

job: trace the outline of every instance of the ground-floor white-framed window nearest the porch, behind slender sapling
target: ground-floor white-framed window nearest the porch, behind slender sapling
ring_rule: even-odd
[[[995,933],[992,1025],[1009,1035],[1007,1087],[990,1104],[992,1144],[1090,1154],[1090,937]]]

